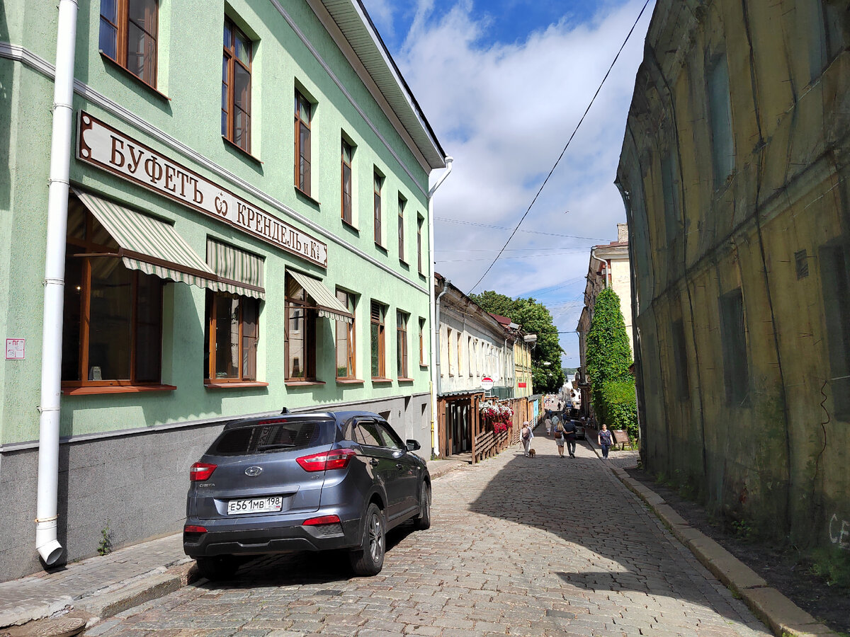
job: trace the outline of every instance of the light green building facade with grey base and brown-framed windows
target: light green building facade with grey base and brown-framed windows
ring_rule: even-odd
[[[176,533],[246,414],[368,409],[431,448],[428,176],[445,154],[359,0],[80,0],[64,560]],[[54,3],[0,5],[0,573],[34,544]]]

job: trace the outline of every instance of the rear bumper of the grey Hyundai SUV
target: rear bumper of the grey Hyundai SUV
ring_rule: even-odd
[[[321,510],[312,517],[331,515]],[[206,533],[183,534],[183,550],[190,557],[212,555],[263,555],[290,551],[346,549],[360,545],[359,518],[348,521],[303,526],[309,519],[297,520],[187,520],[187,525],[204,527]],[[234,523],[235,522],[235,523]]]

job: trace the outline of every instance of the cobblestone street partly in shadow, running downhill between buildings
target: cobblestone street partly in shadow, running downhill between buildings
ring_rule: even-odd
[[[375,578],[344,555],[264,558],[86,634],[769,634],[584,443],[532,447],[435,480],[433,526],[390,533]]]

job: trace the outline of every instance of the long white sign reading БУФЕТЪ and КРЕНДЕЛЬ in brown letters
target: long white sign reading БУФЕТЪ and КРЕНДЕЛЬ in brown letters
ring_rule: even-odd
[[[327,268],[327,245],[80,111],[77,158]]]

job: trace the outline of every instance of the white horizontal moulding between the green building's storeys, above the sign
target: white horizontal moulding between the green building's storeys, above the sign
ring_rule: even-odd
[[[20,62],[26,66],[29,66],[33,70],[37,70],[39,73],[41,73],[45,77],[48,77],[50,80],[54,79],[54,65],[50,64],[47,60],[41,58],[37,54],[32,53],[24,47],[20,47],[16,44],[11,44],[9,42],[0,42],[0,58],[6,58],[14,60],[15,62]],[[348,241],[343,240],[341,237],[337,237],[336,234],[332,234],[331,231],[327,228],[320,226],[318,223],[315,223],[314,221],[310,220],[307,217],[304,217],[297,211],[292,210],[292,208],[286,206],[279,200],[276,200],[269,194],[264,193],[263,190],[258,189],[252,183],[249,183],[245,179],[236,176],[234,173],[230,172],[223,166],[218,166],[218,164],[209,160],[206,156],[201,155],[201,153],[197,152],[195,149],[190,148],[190,146],[187,146],[183,142],[179,141],[177,138],[173,138],[167,132],[161,131],[159,128],[151,125],[147,121],[144,121],[141,117],[133,113],[133,111],[127,110],[121,104],[118,104],[114,100],[106,97],[103,93],[95,91],[94,88],[89,87],[87,84],[84,84],[79,80],[74,80],[74,92],[80,95],[82,98],[87,99],[91,104],[94,104],[99,108],[105,110],[106,112],[111,113],[111,115],[116,116],[118,119],[129,124],[139,132],[144,132],[144,134],[150,136],[150,138],[156,139],[156,141],[162,144],[163,146],[167,146],[167,148],[173,149],[180,155],[183,155],[189,161],[194,161],[195,164],[203,166],[209,172],[218,175],[218,177],[223,178],[225,181],[229,182],[236,188],[242,189],[244,192],[252,194],[255,198],[257,198],[257,200],[263,201],[263,203],[274,208],[276,211],[283,213],[286,217],[294,219],[298,223],[301,223],[307,228],[313,230],[316,234],[320,234],[327,240],[332,241],[333,243],[336,243],[337,245],[343,247],[345,250],[353,252],[355,255],[360,256],[360,258],[364,261],[370,262],[376,268],[380,268],[384,272],[394,276],[396,279],[404,281],[407,285],[410,285],[416,290],[419,290],[424,294],[428,294],[427,287],[418,285],[411,279],[406,279],[403,275],[395,272],[391,268],[388,268],[388,266],[384,265],[382,262],[377,261],[377,259],[366,254],[364,251],[361,251],[360,248],[351,245],[350,243],[348,243]],[[405,172],[407,172],[406,168]]]

